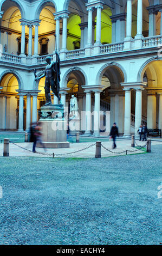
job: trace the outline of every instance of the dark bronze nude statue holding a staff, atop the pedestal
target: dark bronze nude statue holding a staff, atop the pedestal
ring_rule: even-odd
[[[44,74],[40,77],[37,77],[36,70],[34,71],[35,75],[35,81],[38,81],[38,79],[41,79],[42,77],[46,76],[45,80],[45,96],[46,96],[46,104],[51,105],[51,96],[50,96],[50,87],[55,96],[61,101],[59,91],[60,91],[60,57],[59,54],[56,52],[56,62],[51,62],[51,57],[46,58],[46,62],[48,65],[46,66],[46,69],[44,71]],[[61,102],[60,102],[61,103]]]

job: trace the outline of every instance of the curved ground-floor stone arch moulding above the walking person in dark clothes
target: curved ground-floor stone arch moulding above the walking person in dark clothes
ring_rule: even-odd
[[[116,62],[109,62],[109,63],[103,65],[102,68],[99,70],[99,72],[96,76],[96,84],[101,84],[102,76],[109,67],[113,68],[114,71],[117,70],[119,72],[119,74],[121,75],[122,80],[125,82],[127,81],[125,69],[120,64],[118,64]]]

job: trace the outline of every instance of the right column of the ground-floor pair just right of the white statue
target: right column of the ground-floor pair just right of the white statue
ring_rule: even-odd
[[[94,133],[96,137],[100,136],[100,91],[94,93]]]

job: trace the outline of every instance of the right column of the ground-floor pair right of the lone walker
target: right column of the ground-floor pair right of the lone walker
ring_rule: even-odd
[[[142,89],[137,88],[135,94],[135,131],[138,134],[139,126],[142,124]]]

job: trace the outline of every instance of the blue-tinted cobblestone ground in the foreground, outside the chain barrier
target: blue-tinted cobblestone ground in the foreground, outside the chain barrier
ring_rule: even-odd
[[[0,245],[159,245],[161,154],[1,157]]]

